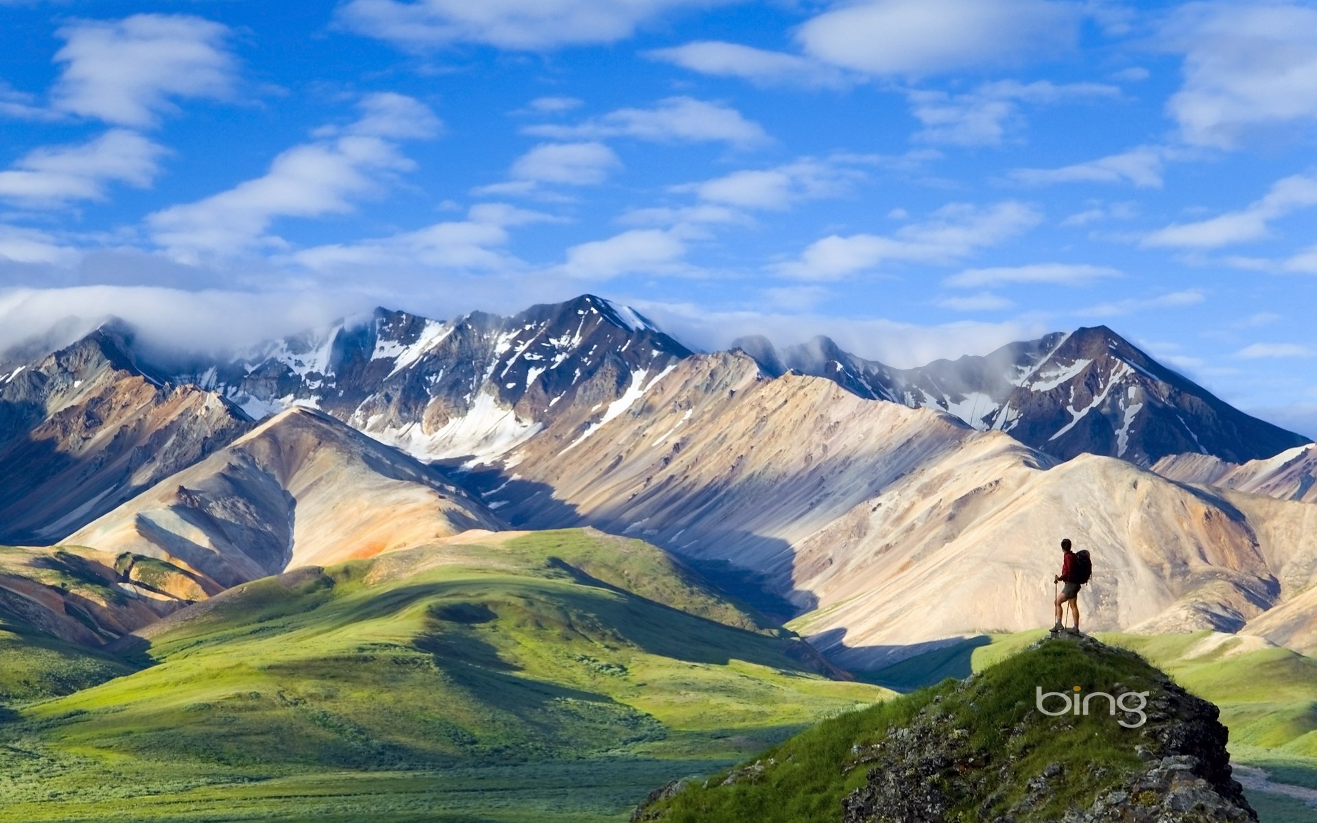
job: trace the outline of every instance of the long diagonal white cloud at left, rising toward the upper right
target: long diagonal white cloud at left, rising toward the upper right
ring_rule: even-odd
[[[354,199],[379,191],[391,174],[412,169],[391,138],[420,133],[381,116],[383,109],[403,107],[396,99],[381,103],[378,96],[370,96],[360,107],[361,120],[328,130],[337,137],[327,134],[283,151],[265,175],[204,200],[154,212],[148,217],[151,238],[175,259],[196,262],[241,254],[254,246],[286,246],[282,238],[267,233],[279,217],[353,211]]]

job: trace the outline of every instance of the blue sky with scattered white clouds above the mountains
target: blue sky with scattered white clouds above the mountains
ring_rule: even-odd
[[[1104,323],[1317,436],[1317,5],[0,0],[0,342],[581,292],[898,366]]]

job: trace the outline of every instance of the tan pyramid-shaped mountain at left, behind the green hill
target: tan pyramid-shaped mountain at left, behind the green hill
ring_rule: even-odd
[[[281,412],[68,539],[221,587],[371,557],[498,520],[437,470],[306,408]]]

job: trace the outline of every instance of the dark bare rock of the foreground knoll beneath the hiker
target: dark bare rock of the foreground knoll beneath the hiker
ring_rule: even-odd
[[[1044,640],[1077,643],[1089,653],[1130,654],[1093,639]],[[976,676],[977,677],[977,676]],[[972,695],[976,677],[960,683],[957,694]],[[1126,687],[1117,683],[1113,694]],[[940,701],[939,701],[940,702]],[[977,819],[1013,823],[1062,820],[1062,823],[1246,823],[1256,812],[1231,777],[1226,751],[1227,730],[1220,711],[1162,676],[1147,707],[1147,722],[1137,741],[1125,741],[1138,758],[1129,766],[1119,760],[1085,761],[1083,747],[1068,762],[1050,762],[1021,783],[1021,761],[1038,744],[1050,718],[1023,711],[1015,724],[1002,728],[998,747],[985,751],[972,745],[967,728],[948,728],[938,704],[921,711],[902,728],[871,745],[852,749],[855,760],[869,770],[868,781],[843,801],[843,823],[942,823],[968,806]],[[994,718],[1000,720],[1000,718]],[[1063,719],[1044,733],[1065,733]],[[1094,748],[1109,741],[1088,741]],[[1090,802],[1075,797],[1077,770],[1087,777],[1115,783],[1101,789]],[[1112,780],[1114,778],[1114,780]],[[1067,806],[1056,815],[1058,798]],[[955,818],[960,819],[960,818]]]

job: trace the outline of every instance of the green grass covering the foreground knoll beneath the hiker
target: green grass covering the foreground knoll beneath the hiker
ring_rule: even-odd
[[[909,727],[922,712],[935,716],[948,735],[964,735],[964,747],[981,764],[992,758],[989,782],[998,794],[960,798],[948,820],[994,819],[1010,809],[1030,778],[1051,764],[1067,780],[1019,820],[1051,820],[1071,807],[1087,807],[1117,787],[1142,762],[1131,732],[1102,712],[1047,718],[1035,711],[1034,689],[1081,686],[1085,693],[1119,682],[1135,691],[1156,691],[1160,674],[1134,656],[1051,643],[985,669],[968,685],[947,679],[880,706],[824,720],[764,752],[751,768],[716,773],[657,803],[653,819],[670,823],[832,823],[842,798],[867,780],[867,748],[892,730]]]

